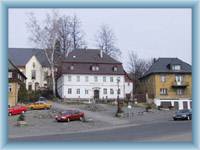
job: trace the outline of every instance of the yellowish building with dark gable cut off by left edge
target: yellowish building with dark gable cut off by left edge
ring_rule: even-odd
[[[25,84],[26,77],[10,60],[8,61],[8,79],[8,105],[12,107],[18,102],[18,91],[20,86]]]

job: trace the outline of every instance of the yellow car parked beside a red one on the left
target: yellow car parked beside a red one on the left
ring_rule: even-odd
[[[44,101],[37,101],[35,103],[27,105],[29,109],[50,109],[52,107],[51,104]]]

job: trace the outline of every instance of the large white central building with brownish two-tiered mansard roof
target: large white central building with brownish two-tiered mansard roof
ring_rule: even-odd
[[[132,93],[122,63],[100,50],[74,50],[59,70],[57,92],[65,99],[120,99]],[[117,93],[119,89],[119,95]]]

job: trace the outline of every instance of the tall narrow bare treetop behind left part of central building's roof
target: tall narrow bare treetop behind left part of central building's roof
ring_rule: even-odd
[[[72,37],[72,48],[79,49],[83,48],[86,43],[84,41],[84,34],[81,30],[81,21],[76,15],[71,17],[71,37]]]

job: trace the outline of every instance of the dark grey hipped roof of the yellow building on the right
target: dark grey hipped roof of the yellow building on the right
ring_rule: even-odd
[[[171,65],[180,65],[180,70],[172,70]],[[153,73],[192,73],[191,65],[178,58],[158,58],[142,78]]]

